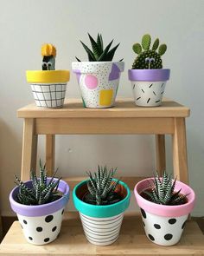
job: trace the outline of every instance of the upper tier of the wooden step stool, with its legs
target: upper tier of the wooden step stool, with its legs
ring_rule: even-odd
[[[155,135],[156,167],[160,174],[166,167],[165,135],[171,135],[174,174],[188,183],[185,128],[188,115],[189,108],[171,100],[164,100],[158,108],[137,107],[129,99],[119,100],[114,108],[103,109],[83,108],[80,100],[67,100],[64,108],[59,109],[36,108],[35,104],[20,108],[17,116],[24,118],[21,178],[29,180],[30,169],[36,167],[38,135],[46,135],[49,174],[54,170],[54,135]],[[123,181],[135,185],[142,178],[123,177]],[[72,177],[67,181],[73,187],[80,179]]]

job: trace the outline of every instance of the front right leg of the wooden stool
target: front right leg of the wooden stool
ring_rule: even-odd
[[[175,118],[173,135],[174,174],[178,181],[188,184],[186,125],[184,118]]]

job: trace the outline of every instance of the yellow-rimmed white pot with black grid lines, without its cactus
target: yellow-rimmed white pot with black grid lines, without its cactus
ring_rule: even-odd
[[[68,70],[28,70],[26,76],[37,107],[63,107],[69,81]]]

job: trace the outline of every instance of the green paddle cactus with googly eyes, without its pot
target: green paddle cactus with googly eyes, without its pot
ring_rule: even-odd
[[[141,44],[135,43],[132,46],[133,51],[138,55],[132,64],[132,69],[163,69],[161,56],[167,50],[166,44],[159,46],[159,39],[156,38],[150,49],[151,36],[148,34],[143,35]],[[158,49],[158,52],[156,52],[156,49]]]

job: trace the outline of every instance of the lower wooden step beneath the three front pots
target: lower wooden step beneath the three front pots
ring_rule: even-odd
[[[47,246],[33,246],[23,238],[22,229],[15,221],[0,245],[1,255],[204,255],[204,235],[193,220],[188,224],[182,240],[176,246],[156,246],[143,232],[140,218],[135,213],[125,215],[121,233],[112,246],[93,246],[83,233],[79,216],[68,213],[61,234]]]

